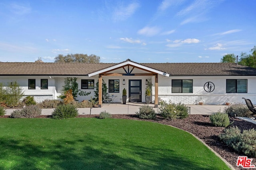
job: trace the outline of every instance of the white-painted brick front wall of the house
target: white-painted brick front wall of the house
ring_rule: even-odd
[[[36,89],[28,89],[28,79],[36,79]],[[48,79],[48,89],[40,89],[40,79]],[[24,94],[26,96],[34,96],[36,102],[41,102],[45,99],[58,99],[58,96],[62,93],[62,88],[64,86],[65,77],[49,77],[49,76],[37,76],[37,77],[0,77],[0,83],[10,83],[17,81],[24,89]],[[78,77],[78,89],[81,88],[81,79],[94,79],[94,83],[98,81],[98,77]],[[122,102],[122,90],[126,88],[127,95],[129,94],[129,79],[141,79],[142,80],[142,102],[145,102],[145,89],[146,89],[146,79],[151,79],[153,83],[152,88],[152,102],[154,103],[154,76],[104,76],[105,83],[108,87],[109,79],[119,79],[120,88],[119,93],[109,93],[110,95],[117,96],[115,102]],[[123,85],[123,79],[125,80],[125,85]],[[192,79],[193,80],[193,93],[172,93],[172,79]],[[225,76],[180,76],[180,77],[164,77],[162,75],[158,76],[158,97],[164,101],[171,101],[174,103],[184,103],[187,105],[196,104],[200,99],[206,105],[223,105],[226,101],[230,103],[244,103],[242,97],[249,98],[252,100],[252,103],[256,104],[256,84],[255,76],[229,76],[228,79],[247,79],[247,93],[226,93],[226,79]],[[214,91],[207,93],[204,90],[204,84],[206,82],[212,82],[215,85]],[[79,96],[77,97],[78,101],[90,100],[91,97],[94,97],[95,89],[83,89],[83,91],[91,92],[88,96]],[[128,101],[128,99],[127,99]]]

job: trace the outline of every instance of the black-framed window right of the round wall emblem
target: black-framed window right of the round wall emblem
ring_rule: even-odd
[[[226,93],[247,93],[247,79],[226,79]]]

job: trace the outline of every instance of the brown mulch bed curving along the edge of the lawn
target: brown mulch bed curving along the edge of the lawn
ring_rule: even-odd
[[[0,116],[0,118],[8,118],[9,116]],[[41,115],[40,118],[49,118],[50,116]],[[98,115],[78,115],[78,117],[98,117]],[[112,118],[115,119],[133,119],[133,120],[142,120],[136,117],[136,115],[112,115]],[[242,121],[239,119],[230,118],[231,121],[234,121],[231,126],[237,126],[241,130],[255,128],[256,125],[247,121]],[[220,154],[227,162],[229,162],[235,169],[242,170],[244,168],[237,167],[236,161],[238,156],[244,156],[242,154],[237,154],[234,150],[228,148],[228,146],[221,142],[218,138],[218,135],[223,132],[223,127],[214,127],[209,119],[208,115],[189,115],[186,119],[177,119],[177,120],[165,120],[160,116],[156,117],[156,120],[143,120],[151,121],[156,123],[161,123],[164,125],[170,125],[182,130],[186,130],[201,140],[203,140],[210,148],[215,152]],[[256,158],[252,158],[252,164],[256,165]]]

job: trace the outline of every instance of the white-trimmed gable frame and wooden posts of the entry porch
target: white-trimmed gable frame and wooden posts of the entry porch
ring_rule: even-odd
[[[128,87],[127,89],[130,89],[130,81],[134,80],[134,77],[136,77],[136,80],[139,80],[139,82],[142,82],[141,80],[147,81],[147,77],[154,77],[154,105],[157,108],[158,107],[158,77],[159,75],[169,77],[168,73],[164,73],[162,71],[146,67],[145,65],[141,65],[139,63],[136,63],[134,61],[131,61],[130,59],[127,59],[126,61],[122,63],[118,63],[116,65],[113,65],[111,67],[93,72],[88,74],[89,77],[98,75],[98,82],[99,82],[99,107],[102,107],[102,77],[108,76],[108,77],[117,77],[116,79],[121,79],[124,81],[123,87]],[[125,83],[125,81],[129,81]],[[141,85],[143,87],[144,85]],[[120,87],[119,87],[120,88]],[[122,89],[120,89],[122,91]],[[130,94],[130,91],[128,91]],[[140,91],[141,95],[142,91]],[[130,95],[128,97],[128,100],[130,101]]]

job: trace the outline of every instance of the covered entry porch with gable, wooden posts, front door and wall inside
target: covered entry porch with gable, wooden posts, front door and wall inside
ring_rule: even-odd
[[[96,71],[88,74],[91,76],[98,76],[98,95],[99,107],[102,107],[102,81],[108,86],[108,93],[110,95],[116,95],[120,99],[122,96],[122,90],[125,88],[127,91],[128,102],[144,102],[144,94],[148,83],[154,82],[151,88],[151,92],[154,92],[154,107],[158,107],[158,77],[159,75],[169,76],[169,74],[146,67],[144,65],[130,61],[130,59],[118,63],[112,67]],[[150,82],[149,82],[150,81]],[[112,83],[114,83],[112,85]],[[152,93],[151,93],[152,95]],[[118,102],[118,101],[117,101]],[[120,102],[120,101],[119,101]]]

